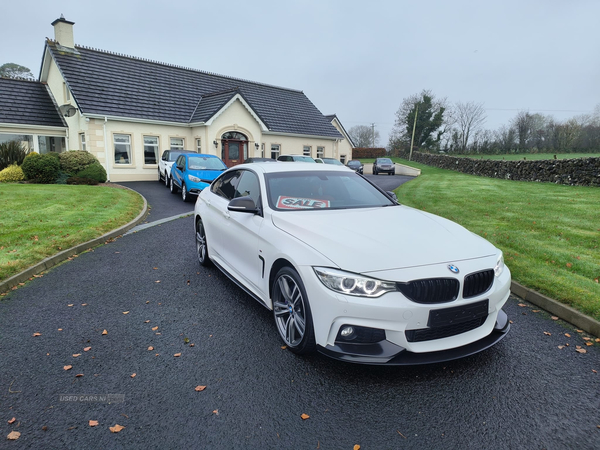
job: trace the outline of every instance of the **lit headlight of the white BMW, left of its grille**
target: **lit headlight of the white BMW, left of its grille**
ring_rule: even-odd
[[[360,297],[380,297],[396,290],[396,283],[364,277],[326,267],[313,267],[317,277],[326,287],[340,294]]]

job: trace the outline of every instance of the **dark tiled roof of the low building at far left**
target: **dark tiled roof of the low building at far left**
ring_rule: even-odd
[[[0,78],[0,123],[66,127],[46,85]]]

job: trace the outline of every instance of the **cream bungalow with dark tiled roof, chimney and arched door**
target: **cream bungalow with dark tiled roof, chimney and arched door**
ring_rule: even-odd
[[[62,117],[48,125],[52,133],[31,130],[60,139],[34,142],[36,151],[87,150],[114,182],[157,179],[166,149],[210,153],[228,166],[280,154],[352,158],[339,119],[302,91],[75,45],[73,22],[52,25],[40,81],[29,83],[47,88]],[[5,125],[0,118],[0,138],[15,131]]]

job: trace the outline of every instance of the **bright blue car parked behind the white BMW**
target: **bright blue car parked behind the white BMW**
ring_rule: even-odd
[[[225,169],[227,166],[217,156],[182,153],[171,168],[171,194],[181,191],[181,198],[187,202],[190,195],[198,195]]]

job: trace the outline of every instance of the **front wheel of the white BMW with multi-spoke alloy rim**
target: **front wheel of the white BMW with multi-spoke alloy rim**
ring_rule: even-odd
[[[279,336],[299,355],[312,353],[317,345],[312,314],[304,283],[298,272],[283,267],[273,283],[273,317]]]

